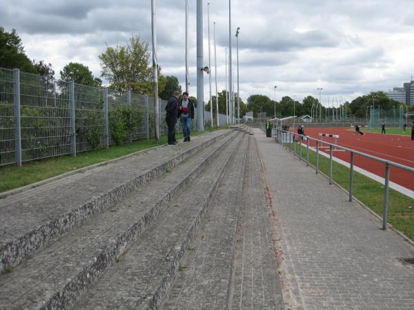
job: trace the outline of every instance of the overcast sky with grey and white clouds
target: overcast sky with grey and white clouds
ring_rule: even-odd
[[[189,0],[190,95],[196,95],[196,1]],[[157,54],[161,72],[185,84],[185,0],[157,0]],[[233,0],[233,70],[237,76],[235,30],[239,34],[239,85],[244,101],[264,94],[328,96],[341,101],[372,90],[402,87],[414,72],[412,0]],[[225,87],[228,1],[210,0],[212,89],[214,41],[218,89]],[[106,45],[125,45],[131,35],[151,42],[150,0],[1,0],[0,25],[12,28],[30,59],[59,71],[70,61],[100,76]],[[208,65],[207,1],[204,1],[204,63]],[[236,80],[236,79],[235,79]],[[208,76],[204,79],[208,100]],[[237,84],[236,84],[237,89]]]

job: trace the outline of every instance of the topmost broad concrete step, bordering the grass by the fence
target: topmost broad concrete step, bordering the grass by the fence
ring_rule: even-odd
[[[0,199],[0,273],[228,132],[212,132],[177,147],[150,149]]]

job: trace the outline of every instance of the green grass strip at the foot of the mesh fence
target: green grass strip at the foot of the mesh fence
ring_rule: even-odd
[[[222,128],[223,127],[220,127],[219,129]],[[212,131],[213,130],[206,130],[205,132]],[[192,136],[198,136],[205,132],[192,132]],[[182,141],[183,134],[176,134],[175,136],[178,141]],[[3,166],[0,167],[0,193],[30,185],[41,180],[46,180],[53,176],[59,176],[59,174],[64,174],[75,169],[102,163],[104,161],[110,161],[111,159],[119,158],[151,147],[165,145],[166,143],[167,137],[161,136],[159,143],[155,143],[153,139],[149,141],[143,140],[120,146],[114,145],[108,149],[80,152],[76,157],[59,156],[41,159],[39,161],[28,161],[24,162],[21,167],[18,167],[17,165]]]

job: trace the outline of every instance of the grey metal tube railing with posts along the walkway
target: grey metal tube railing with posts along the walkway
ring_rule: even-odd
[[[333,149],[341,149],[345,152],[349,152],[350,154],[350,172],[349,172],[349,197],[348,200],[352,201],[353,198],[353,168],[354,168],[354,155],[363,156],[366,158],[370,158],[373,161],[377,161],[384,164],[385,169],[385,178],[384,178],[384,209],[383,209],[383,216],[382,216],[382,229],[386,230],[386,223],[388,218],[388,195],[389,195],[389,181],[390,181],[390,168],[397,167],[399,169],[403,169],[404,171],[413,173],[414,178],[414,168],[408,167],[405,165],[401,165],[399,163],[394,163],[393,161],[387,161],[383,158],[379,158],[376,156],[372,156],[369,154],[365,154],[362,152],[355,151],[355,149],[349,149],[348,147],[342,147],[340,145],[336,145],[334,143],[328,143],[326,141],[318,140],[316,138],[312,138],[310,136],[304,136],[301,134],[295,134],[295,132],[288,132],[285,130],[280,130],[278,128],[274,129],[274,136],[277,143],[284,146],[286,149],[289,149],[289,152],[292,152],[290,147],[291,143],[293,143],[293,154],[294,156],[298,156],[299,160],[302,160],[302,138],[306,138],[306,165],[309,165],[309,141],[315,141],[315,153],[316,153],[316,161],[315,161],[315,173],[319,172],[319,148],[321,145],[327,145],[329,147],[329,172],[328,172],[328,179],[329,184],[332,184],[332,174],[333,174]],[[296,140],[298,137],[298,141]],[[297,143],[299,142],[299,143]],[[288,147],[289,143],[289,147]],[[297,144],[299,144],[299,152],[297,152]]]

